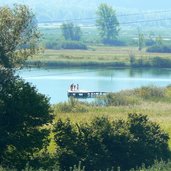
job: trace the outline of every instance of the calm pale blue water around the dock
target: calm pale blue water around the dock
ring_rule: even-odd
[[[51,103],[67,101],[72,83],[83,90],[107,92],[171,84],[171,69],[25,69],[19,74],[49,96]]]

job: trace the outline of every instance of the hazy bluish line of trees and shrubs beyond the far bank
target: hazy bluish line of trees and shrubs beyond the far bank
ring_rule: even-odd
[[[106,17],[107,16],[107,17]],[[95,30],[84,28],[74,24],[72,21],[66,21],[60,26],[60,36],[57,35],[53,41],[46,40],[45,48],[48,49],[87,49],[87,45],[104,44],[110,46],[137,46],[138,50],[146,48],[147,52],[170,53],[170,41],[165,41],[160,35],[155,35],[153,32],[145,35],[143,30],[138,27],[137,34],[134,33],[136,40],[133,38],[121,38],[121,25],[119,17],[112,6],[102,3],[96,9]],[[91,26],[90,26],[91,27]],[[88,33],[91,32],[92,33]],[[97,34],[94,35],[95,31]],[[88,34],[87,34],[88,33]],[[84,35],[85,34],[85,35]],[[85,37],[93,37],[91,41],[87,41]],[[84,39],[83,39],[84,37]]]

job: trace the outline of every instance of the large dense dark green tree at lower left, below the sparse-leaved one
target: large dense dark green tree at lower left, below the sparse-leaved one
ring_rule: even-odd
[[[48,145],[49,99],[34,86],[0,70],[0,165],[18,170]]]

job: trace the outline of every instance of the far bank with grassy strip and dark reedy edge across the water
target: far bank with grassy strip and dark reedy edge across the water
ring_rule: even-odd
[[[137,47],[91,46],[88,50],[45,50],[29,58],[34,67],[171,67],[171,54],[148,53]]]

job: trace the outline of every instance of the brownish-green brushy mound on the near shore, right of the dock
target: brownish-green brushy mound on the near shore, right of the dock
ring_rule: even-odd
[[[99,97],[96,100],[96,104],[102,106],[133,106],[141,104],[142,101],[171,102],[171,97],[167,94],[168,91],[170,91],[170,87],[141,87],[119,93],[109,93],[106,96]]]

